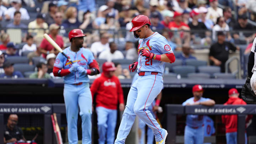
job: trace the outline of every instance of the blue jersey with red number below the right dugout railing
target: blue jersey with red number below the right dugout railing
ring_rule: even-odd
[[[215,133],[214,122],[210,117],[204,116],[203,123],[204,123],[204,137],[210,137],[212,134]]]

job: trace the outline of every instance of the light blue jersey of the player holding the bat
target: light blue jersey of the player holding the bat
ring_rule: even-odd
[[[89,49],[80,48],[78,52],[73,52],[70,47],[63,50],[63,52],[73,61],[78,63],[83,68],[89,68],[89,64],[94,60],[94,56]],[[55,59],[54,66],[60,69],[69,69],[72,63],[61,53],[59,53]],[[89,78],[86,74],[81,74],[78,71],[70,73],[64,76],[65,84],[77,84],[79,82],[89,82]]]

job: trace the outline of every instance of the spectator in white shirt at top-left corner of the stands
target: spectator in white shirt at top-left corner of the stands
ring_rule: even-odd
[[[7,9],[5,12],[5,19],[10,20],[14,18],[15,11],[20,11],[21,13],[21,20],[29,20],[30,16],[28,15],[28,12],[26,9],[21,7],[21,0],[12,0],[11,1],[12,7]]]

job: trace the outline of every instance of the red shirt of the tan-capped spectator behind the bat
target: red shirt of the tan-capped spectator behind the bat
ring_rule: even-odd
[[[52,36],[50,34],[49,34],[49,36],[52,38]],[[60,48],[63,48],[64,42],[63,42],[62,36],[57,35],[55,42],[59,45]],[[54,49],[52,44],[50,44],[45,38],[41,42],[40,47],[47,51],[51,51],[52,49]],[[46,54],[43,53],[43,57],[46,58]]]

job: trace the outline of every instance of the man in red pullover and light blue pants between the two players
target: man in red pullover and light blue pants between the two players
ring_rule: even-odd
[[[92,99],[96,94],[98,143],[105,144],[107,134],[107,144],[113,144],[118,102],[120,103],[119,110],[124,110],[123,90],[118,78],[114,76],[114,71],[116,70],[114,63],[104,63],[102,70],[101,76],[95,79],[91,85]]]

